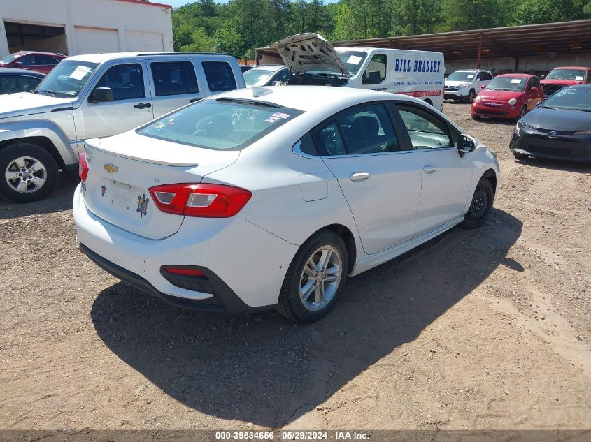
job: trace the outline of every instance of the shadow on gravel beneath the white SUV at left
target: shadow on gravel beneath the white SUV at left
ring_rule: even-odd
[[[54,212],[63,212],[72,208],[74,189],[80,179],[76,172],[59,174],[57,187],[47,198],[36,202],[18,204],[4,200],[0,197],[0,219],[12,219],[19,216],[42,215]]]

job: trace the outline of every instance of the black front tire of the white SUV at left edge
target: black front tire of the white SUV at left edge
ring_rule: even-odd
[[[17,159],[24,159],[17,161]],[[17,163],[22,163],[24,168],[33,167],[37,161],[43,166],[38,171],[19,170]],[[38,167],[38,165],[37,165]],[[6,174],[15,172],[24,174],[21,177],[15,176],[14,179],[8,179]],[[32,172],[29,175],[29,172]],[[29,142],[14,142],[0,149],[0,196],[12,202],[34,202],[43,200],[55,188],[57,184],[57,163],[53,156],[42,147]],[[37,178],[33,181],[34,177]],[[43,179],[43,184],[36,183]],[[24,182],[25,191],[18,191],[18,184]]]

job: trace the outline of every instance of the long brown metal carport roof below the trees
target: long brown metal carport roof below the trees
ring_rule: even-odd
[[[446,60],[575,54],[591,52],[591,20],[331,43],[336,47],[392,47],[443,52]],[[257,54],[278,56],[270,47],[257,49]]]

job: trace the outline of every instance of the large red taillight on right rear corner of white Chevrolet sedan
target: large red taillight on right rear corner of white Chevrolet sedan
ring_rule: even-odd
[[[164,184],[148,189],[162,212],[204,218],[229,218],[241,211],[252,193],[223,184]]]

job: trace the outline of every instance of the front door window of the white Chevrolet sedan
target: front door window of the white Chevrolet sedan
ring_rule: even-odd
[[[454,147],[450,140],[449,128],[431,112],[406,105],[398,105],[398,112],[413,149],[439,149]]]

